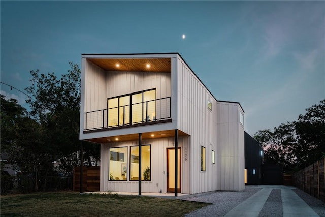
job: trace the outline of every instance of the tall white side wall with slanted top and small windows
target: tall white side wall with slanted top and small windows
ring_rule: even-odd
[[[177,126],[190,135],[190,194],[215,191],[217,163],[212,164],[212,150],[217,153],[217,102],[180,57],[177,67]],[[206,171],[201,171],[201,146],[206,148]]]

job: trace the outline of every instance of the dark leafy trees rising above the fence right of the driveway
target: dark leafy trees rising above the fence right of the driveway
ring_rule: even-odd
[[[297,121],[282,123],[274,131],[259,130],[254,138],[262,144],[267,163],[286,169],[314,163],[325,156],[325,100],[307,108]]]

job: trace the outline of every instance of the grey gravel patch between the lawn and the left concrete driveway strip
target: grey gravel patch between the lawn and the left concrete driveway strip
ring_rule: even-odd
[[[224,216],[232,208],[261,190],[261,188],[245,188],[240,192],[212,192],[209,194],[190,197],[184,200],[212,203],[209,206],[186,214],[185,216]]]

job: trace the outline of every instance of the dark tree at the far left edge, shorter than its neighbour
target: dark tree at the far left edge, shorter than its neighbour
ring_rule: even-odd
[[[7,165],[11,169],[19,170],[20,176],[32,175],[34,180],[39,180],[41,171],[52,168],[52,147],[44,145],[42,126],[28,117],[26,109],[17,100],[6,100],[3,95],[1,143],[1,153],[7,157]],[[38,181],[31,184],[33,189],[38,190]]]

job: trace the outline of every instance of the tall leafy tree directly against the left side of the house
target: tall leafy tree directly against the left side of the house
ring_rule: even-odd
[[[41,74],[30,71],[31,86],[25,90],[36,100],[27,100],[30,114],[45,129],[47,145],[55,147],[54,159],[60,162],[62,172],[72,175],[73,167],[79,165],[79,118],[80,118],[80,69],[69,63],[67,74],[57,78],[54,73]],[[85,159],[91,166],[92,158],[99,158],[99,145],[85,145]]]

